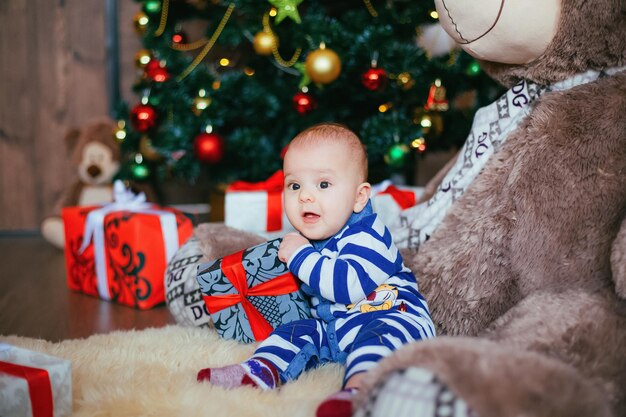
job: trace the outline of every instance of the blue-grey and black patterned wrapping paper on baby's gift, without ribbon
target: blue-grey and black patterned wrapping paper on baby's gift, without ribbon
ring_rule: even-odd
[[[243,251],[242,265],[246,271],[248,288],[289,272],[287,265],[278,259],[280,241],[281,239],[270,240]],[[200,291],[205,296],[237,294],[233,284],[222,272],[222,259],[224,258],[198,266],[197,280]],[[247,300],[272,328],[312,317],[308,297],[301,290],[276,296],[248,296]],[[212,313],[211,318],[217,333],[225,339],[243,343],[258,341],[241,303]]]

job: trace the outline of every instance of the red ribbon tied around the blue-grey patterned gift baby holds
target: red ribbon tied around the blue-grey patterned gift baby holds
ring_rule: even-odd
[[[220,310],[241,303],[250,321],[255,340],[267,339],[274,328],[246,297],[276,296],[297,291],[298,283],[296,278],[290,272],[286,272],[267,282],[249,288],[246,270],[243,267],[243,251],[222,258],[221,269],[226,278],[233,284],[235,290],[237,290],[237,294],[204,295],[204,303],[209,313],[215,314]]]

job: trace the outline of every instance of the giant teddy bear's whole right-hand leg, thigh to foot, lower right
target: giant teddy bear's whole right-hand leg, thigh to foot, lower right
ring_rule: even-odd
[[[406,395],[402,386],[413,383],[415,369],[424,369],[482,417],[623,415],[626,317],[610,308],[611,296],[538,293],[480,337],[440,336],[403,346],[367,376],[362,407],[378,407],[381,392],[393,397],[401,391],[400,409],[435,407],[436,398],[420,403],[422,395]]]

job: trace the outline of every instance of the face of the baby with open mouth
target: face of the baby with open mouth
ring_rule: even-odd
[[[362,210],[358,164],[342,143],[290,146],[283,164],[287,218],[304,237],[333,236]]]

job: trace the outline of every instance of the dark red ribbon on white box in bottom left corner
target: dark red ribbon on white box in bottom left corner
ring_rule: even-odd
[[[50,376],[45,369],[0,361],[0,373],[25,379],[33,409],[33,417],[52,417],[54,407]]]

